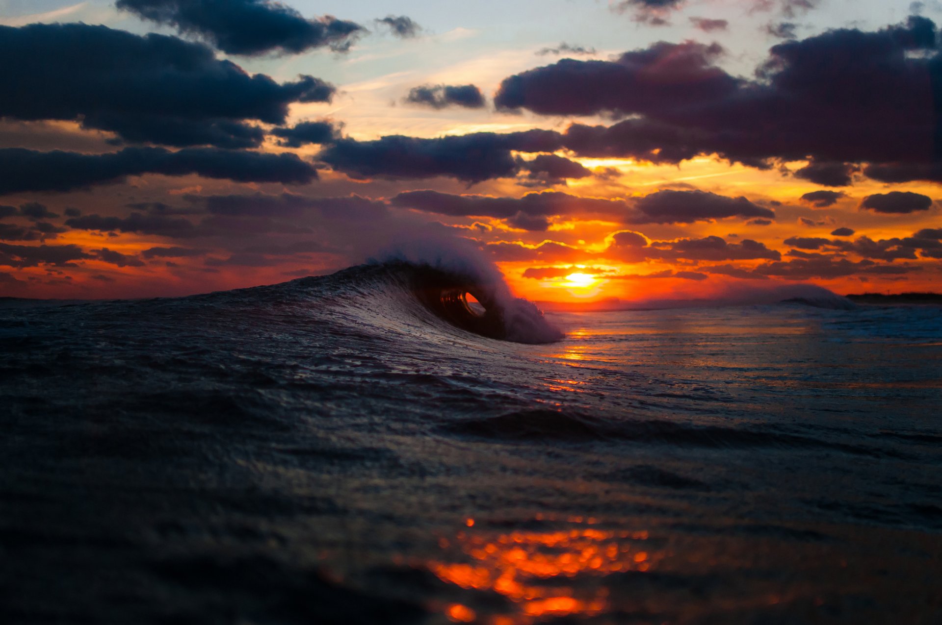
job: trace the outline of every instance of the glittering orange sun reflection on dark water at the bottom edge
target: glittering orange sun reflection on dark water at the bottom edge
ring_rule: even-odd
[[[569,527],[553,531],[463,531],[454,539],[442,538],[439,546],[449,557],[428,564],[439,579],[510,600],[507,610],[487,617],[453,603],[447,606],[446,617],[489,625],[591,617],[609,608],[609,590],[599,581],[651,567],[653,557],[644,542],[647,532],[598,529],[594,519],[569,522]]]

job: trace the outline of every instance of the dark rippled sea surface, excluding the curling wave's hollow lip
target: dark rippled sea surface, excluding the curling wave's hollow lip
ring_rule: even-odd
[[[942,308],[0,306],[0,621],[942,622]]]

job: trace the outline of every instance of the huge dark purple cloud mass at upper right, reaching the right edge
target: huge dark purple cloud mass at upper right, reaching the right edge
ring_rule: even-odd
[[[563,59],[510,76],[495,104],[633,116],[571,126],[565,146],[581,156],[676,163],[717,154],[760,168],[809,160],[803,175],[829,184],[849,182],[854,166],[843,164],[866,162],[865,173],[885,182],[942,181],[934,35],[920,17],[875,32],[829,30],[773,46],[754,80],[714,65],[719,46],[658,42],[614,61]]]

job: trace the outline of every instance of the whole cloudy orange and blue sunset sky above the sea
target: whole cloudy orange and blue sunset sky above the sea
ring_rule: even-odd
[[[938,291],[942,4],[0,0],[0,296],[477,248],[519,296]]]

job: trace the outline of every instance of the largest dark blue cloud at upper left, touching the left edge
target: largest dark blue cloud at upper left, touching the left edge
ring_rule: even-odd
[[[225,12],[225,11],[220,11]],[[123,139],[176,147],[244,148],[284,123],[288,105],[328,102],[331,85],[312,76],[278,84],[219,60],[199,43],[106,26],[0,26],[0,116],[78,120]]]

